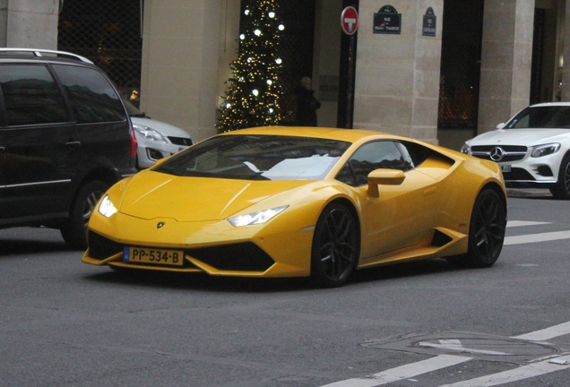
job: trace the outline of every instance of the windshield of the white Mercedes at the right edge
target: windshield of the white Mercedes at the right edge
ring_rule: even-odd
[[[504,129],[526,128],[570,128],[570,107],[527,107],[504,127]]]

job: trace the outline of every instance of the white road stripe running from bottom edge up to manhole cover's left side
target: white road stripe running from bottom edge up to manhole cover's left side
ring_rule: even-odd
[[[416,363],[395,367],[384,372],[373,374],[368,378],[347,379],[341,382],[326,384],[322,387],[375,387],[382,384],[398,382],[419,374],[426,374],[448,366],[455,366],[471,360],[471,357],[440,355]]]

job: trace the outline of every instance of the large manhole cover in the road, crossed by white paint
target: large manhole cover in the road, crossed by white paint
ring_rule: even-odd
[[[444,331],[433,334],[409,334],[360,344],[367,348],[391,349],[427,355],[464,355],[481,360],[522,364],[551,357],[561,351],[552,345],[486,335],[474,332]]]

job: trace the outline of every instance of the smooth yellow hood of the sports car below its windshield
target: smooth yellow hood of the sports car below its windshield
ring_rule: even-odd
[[[264,199],[309,183],[311,181],[180,177],[146,170],[124,184],[118,211],[141,219],[220,220]],[[117,202],[113,193],[111,200]],[[289,203],[280,202],[275,206],[285,204]]]

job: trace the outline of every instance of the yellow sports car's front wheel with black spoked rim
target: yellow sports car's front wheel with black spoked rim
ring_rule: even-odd
[[[357,266],[358,224],[350,210],[332,203],[316,222],[311,252],[311,278],[323,288],[341,286]]]

